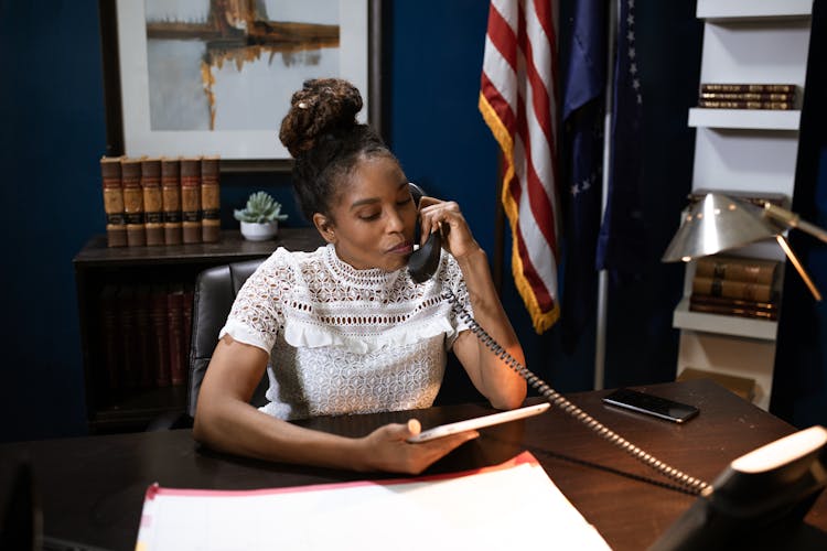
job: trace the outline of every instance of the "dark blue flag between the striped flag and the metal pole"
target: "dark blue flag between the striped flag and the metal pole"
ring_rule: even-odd
[[[602,188],[605,34],[606,3],[576,2],[562,97],[566,179],[561,196],[566,237],[560,323],[567,353],[573,350],[594,315],[597,301],[594,259]]]

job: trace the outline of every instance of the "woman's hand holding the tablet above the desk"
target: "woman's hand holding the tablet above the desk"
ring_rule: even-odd
[[[407,441],[420,431],[419,421],[411,419],[407,424],[386,424],[359,439],[364,471],[418,475],[437,460],[444,457],[469,440],[480,436],[476,431],[464,431],[416,444]]]

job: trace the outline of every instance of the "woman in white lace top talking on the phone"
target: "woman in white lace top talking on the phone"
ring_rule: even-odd
[[[493,407],[525,399],[525,381],[441,298],[450,290],[523,361],[485,252],[457,203],[423,197],[417,210],[399,162],[356,121],[361,109],[358,90],[341,79],[309,80],[291,99],[279,137],[296,160],[301,208],[329,245],[277,250],[239,291],[198,395],[201,442],[270,461],[417,474],[477,433],[410,444],[416,420],[359,439],[287,420],[429,407],[449,350]],[[423,236],[441,230],[444,249],[421,284],[405,269],[417,224]],[[270,402],[256,409],[249,399],[266,371]]]

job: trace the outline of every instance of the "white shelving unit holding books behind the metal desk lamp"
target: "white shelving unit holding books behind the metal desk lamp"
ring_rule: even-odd
[[[806,0],[698,0],[696,17],[704,21],[700,82],[791,83],[804,94],[810,12]],[[798,110],[690,108],[688,125],[696,129],[692,191],[780,193],[792,201],[799,121]],[[727,255],[784,261],[774,241]],[[690,262],[684,299],[673,315],[680,329],[677,375],[692,367],[752,379],[754,402],[769,409],[777,323],[690,311],[694,276]],[[776,282],[778,290],[782,285]]]

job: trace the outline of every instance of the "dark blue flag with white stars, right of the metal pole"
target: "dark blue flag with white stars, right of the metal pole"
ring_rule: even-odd
[[[621,0],[612,101],[612,164],[597,262],[599,269],[609,270],[613,278],[640,273],[645,261],[642,115],[634,0]]]

